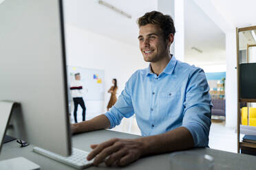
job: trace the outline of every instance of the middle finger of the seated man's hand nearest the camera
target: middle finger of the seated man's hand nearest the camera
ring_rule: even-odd
[[[114,152],[118,151],[119,149],[121,149],[122,144],[120,143],[115,143],[115,145],[111,145],[105,149],[103,149],[103,151],[100,152],[100,154],[98,154],[98,156],[96,156],[96,158],[94,159],[94,165],[98,165],[101,162],[103,162],[108,156],[111,156],[111,154],[113,154]]]

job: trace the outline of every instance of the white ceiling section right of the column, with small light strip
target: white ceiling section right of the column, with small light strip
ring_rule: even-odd
[[[191,0],[184,1],[184,46],[186,62],[196,65],[226,63],[224,32]]]

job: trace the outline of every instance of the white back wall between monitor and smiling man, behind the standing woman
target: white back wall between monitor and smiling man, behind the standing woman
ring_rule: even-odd
[[[74,27],[69,23],[65,25],[65,34],[68,65],[105,71],[105,110],[110,98],[107,90],[112,86],[111,80],[118,80],[119,96],[132,73],[148,66],[139,47]],[[96,108],[100,104],[91,102],[89,105],[90,108]]]

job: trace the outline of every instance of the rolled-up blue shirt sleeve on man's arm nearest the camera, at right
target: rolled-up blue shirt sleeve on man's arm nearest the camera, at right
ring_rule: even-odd
[[[208,147],[212,106],[204,71],[195,69],[186,86],[182,121],[193,136],[194,147]]]

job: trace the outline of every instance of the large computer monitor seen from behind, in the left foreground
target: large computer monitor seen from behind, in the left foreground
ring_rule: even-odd
[[[61,0],[0,3],[0,101],[21,106],[11,115],[12,134],[67,156],[71,133],[64,42]]]

